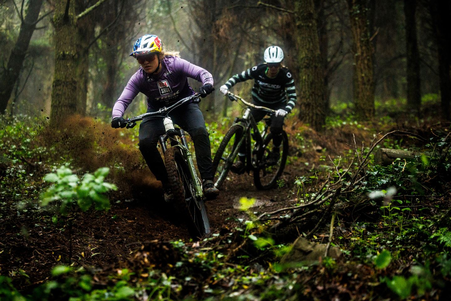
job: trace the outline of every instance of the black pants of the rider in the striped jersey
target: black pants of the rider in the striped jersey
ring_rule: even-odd
[[[285,106],[286,106],[285,102],[268,104],[268,103],[264,103],[264,102],[259,102],[255,98],[253,98],[252,103],[256,106],[267,107],[267,108],[270,108],[273,110],[278,110],[278,109],[285,110]],[[255,122],[259,122],[260,120],[263,119],[263,117],[265,117],[267,115],[267,112],[251,108],[251,114],[252,114]],[[270,126],[269,130],[273,134],[272,142],[273,142],[273,145],[275,145],[275,146],[279,146],[282,143],[282,131],[283,131],[284,119],[285,119],[285,116],[272,115],[272,117],[271,117],[271,126]],[[244,160],[244,156],[246,155],[245,153],[246,153],[246,145],[243,143],[243,144],[241,144],[241,146],[239,147],[239,150],[238,150],[240,160]]]

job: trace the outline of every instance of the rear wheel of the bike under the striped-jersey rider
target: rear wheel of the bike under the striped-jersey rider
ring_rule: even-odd
[[[273,137],[272,133],[267,134],[263,140],[263,146],[256,145],[253,150],[256,163],[256,168],[253,173],[254,184],[259,190],[268,190],[274,187],[285,168],[286,158],[288,156],[288,136],[285,131],[282,132],[282,143],[279,148],[278,158],[276,156],[277,159],[271,162],[271,159],[274,158],[270,155],[274,146]]]

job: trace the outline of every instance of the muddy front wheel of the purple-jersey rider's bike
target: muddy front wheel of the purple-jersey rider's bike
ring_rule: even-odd
[[[166,150],[165,165],[175,209],[181,210],[189,233],[193,238],[210,235],[210,222],[205,204],[201,197],[196,196],[195,183],[179,148],[172,147]]]

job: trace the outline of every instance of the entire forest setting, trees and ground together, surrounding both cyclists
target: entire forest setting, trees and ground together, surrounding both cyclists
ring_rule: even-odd
[[[441,0],[0,0],[0,300],[448,300],[450,16]],[[213,75],[213,155],[243,111],[227,79],[277,45],[295,80],[277,187],[230,173],[200,241],[138,127],[110,127],[144,34]],[[125,117],[146,110],[139,94]]]

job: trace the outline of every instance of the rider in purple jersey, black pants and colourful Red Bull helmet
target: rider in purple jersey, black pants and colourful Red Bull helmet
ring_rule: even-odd
[[[115,102],[111,120],[113,128],[126,126],[122,116],[139,92],[147,96],[147,112],[153,112],[193,95],[194,91],[188,84],[188,77],[202,82],[199,88],[201,97],[206,97],[215,89],[212,74],[183,60],[179,52],[167,51],[156,35],[146,34],[140,37],[133,45],[130,56],[136,58],[141,67],[129,79],[124,91]],[[175,107],[168,116],[191,136],[205,197],[216,198],[219,190],[212,181],[210,140],[199,105],[188,103]],[[162,117],[144,119],[139,126],[139,150],[156,179],[161,181],[165,199],[168,199],[171,193],[166,167],[156,148],[158,137],[162,134],[165,134]]]

